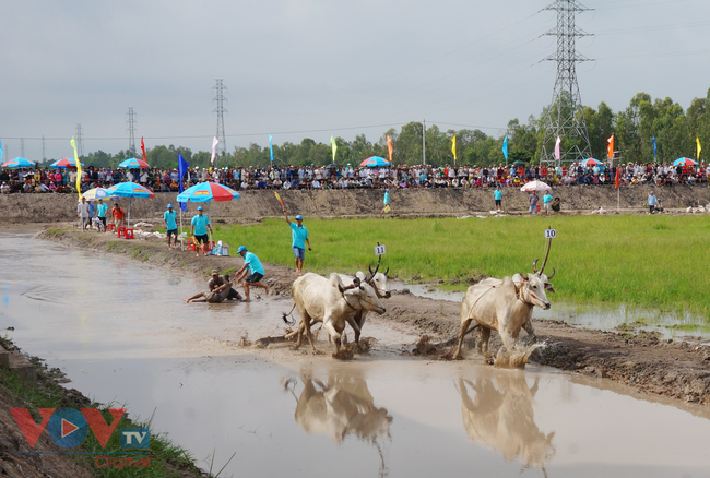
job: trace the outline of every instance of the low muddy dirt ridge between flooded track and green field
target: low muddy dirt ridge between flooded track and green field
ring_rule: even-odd
[[[116,240],[113,236],[78,230],[48,232],[42,238],[97,252],[128,254],[144,263],[175,266],[196,276],[206,277],[212,268],[221,271],[241,266],[239,258],[196,258],[190,252],[167,250],[163,242]],[[274,295],[289,295],[296,279],[293,270],[264,264],[267,282]],[[461,306],[458,302],[433,300],[397,292],[387,301],[384,321],[392,321],[428,335],[433,343],[454,337],[460,328]],[[661,340],[658,336],[634,331],[611,333],[582,331],[560,322],[535,321],[537,336],[546,346],[534,360],[545,366],[577,372],[589,377],[603,377],[640,391],[672,397],[683,402],[710,404],[710,346],[691,343]],[[474,333],[475,334],[475,333]],[[524,335],[524,332],[523,332]],[[494,337],[496,334],[494,333]],[[483,362],[468,340],[468,359]],[[497,348],[499,342],[493,340]],[[413,346],[411,352],[425,349],[435,356],[446,351],[442,347]]]

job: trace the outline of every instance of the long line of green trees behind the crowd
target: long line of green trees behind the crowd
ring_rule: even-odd
[[[549,108],[549,107],[546,107]],[[453,164],[451,139],[457,136],[457,163],[469,165],[493,165],[505,163],[502,142],[508,136],[508,162],[522,160],[536,164],[543,145],[545,129],[543,119],[530,116],[526,123],[519,119],[508,122],[507,129],[498,135],[489,135],[478,129],[440,130],[436,124],[426,129],[426,162],[433,165]],[[616,150],[624,162],[653,163],[653,142],[656,142],[656,160],[670,163],[679,157],[695,158],[696,138],[707,146],[710,154],[710,89],[705,98],[695,98],[690,106],[684,108],[671,98],[655,98],[647,93],[638,93],[623,111],[614,112],[604,101],[596,109],[584,107],[582,112],[589,132],[592,157],[607,157],[607,139],[614,134]],[[388,158],[389,136],[393,147],[395,165],[417,165],[423,162],[422,122],[410,122],[399,131],[394,128],[383,132],[377,141],[369,141],[365,134],[358,134],[353,141],[335,138],[338,153],[335,163],[358,165],[369,156]],[[549,145],[547,145],[549,147]],[[563,141],[563,147],[565,142]],[[192,153],[184,146],[155,146],[146,152],[147,163],[157,168],[177,167],[178,153],[192,167],[209,167],[210,152]],[[317,165],[332,163],[330,143],[319,143],[305,138],[299,144],[284,142],[273,145],[276,166]],[[117,167],[120,162],[137,156],[133,151],[120,151],[111,155],[103,151],[81,157],[86,166]],[[702,159],[702,158],[701,158]],[[269,166],[271,154],[269,147],[251,143],[249,147],[235,147],[228,154],[218,157],[220,167]]]

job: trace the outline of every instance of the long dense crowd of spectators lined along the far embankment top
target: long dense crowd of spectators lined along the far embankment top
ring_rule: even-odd
[[[710,165],[622,164],[622,184],[699,184],[707,182]],[[215,181],[236,190],[250,189],[356,189],[356,188],[489,188],[521,187],[532,180],[551,186],[614,186],[616,167],[604,164],[582,166],[392,166],[380,168],[318,166],[274,166],[269,168],[193,168],[185,175],[184,187]],[[165,168],[82,170],[82,191],[134,181],[153,191],[177,191],[178,170]],[[0,192],[75,192],[76,169],[3,169]]]

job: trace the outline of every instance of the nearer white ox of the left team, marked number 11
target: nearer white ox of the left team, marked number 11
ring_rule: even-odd
[[[350,323],[359,337],[359,326],[355,322],[355,314],[366,309],[368,311],[384,313],[384,308],[375,289],[368,284],[354,280],[344,287],[336,273],[329,278],[318,274],[308,273],[294,282],[292,294],[295,307],[300,314],[295,348],[300,347],[303,333],[306,332],[310,347],[316,351],[310,327],[316,322],[322,322],[323,328],[335,343],[335,356],[340,355],[341,335],[345,330],[345,323]]]

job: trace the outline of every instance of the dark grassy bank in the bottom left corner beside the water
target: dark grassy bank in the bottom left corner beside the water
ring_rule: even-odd
[[[13,349],[14,345],[7,337],[0,336],[0,350]],[[113,417],[108,413],[108,408],[120,408],[121,405],[102,405],[92,403],[83,395],[75,391],[68,391],[59,384],[57,370],[49,370],[39,360],[33,359],[37,371],[37,383],[31,384],[22,380],[12,370],[0,368],[0,394],[12,402],[16,406],[27,408],[36,422],[42,421],[42,416],[38,408],[98,408],[104,415],[107,423],[111,423]],[[117,430],[120,428],[152,428],[150,421],[135,420],[127,418],[128,415],[121,418]],[[144,458],[145,455],[131,453],[130,450],[121,449],[118,431],[114,432],[106,447],[102,447],[98,440],[93,432],[88,432],[86,440],[84,440],[78,447],[71,449],[71,452],[84,453],[76,455],[69,455],[80,466],[90,470],[96,477],[145,477],[145,478],[185,478],[185,477],[203,477],[208,476],[196,468],[193,459],[180,446],[173,443],[164,434],[155,433],[151,430],[150,447],[147,449],[150,456],[150,467],[145,468],[125,468],[118,469],[114,467],[97,468],[94,463],[94,456],[111,455],[118,458],[130,456],[134,459]]]

